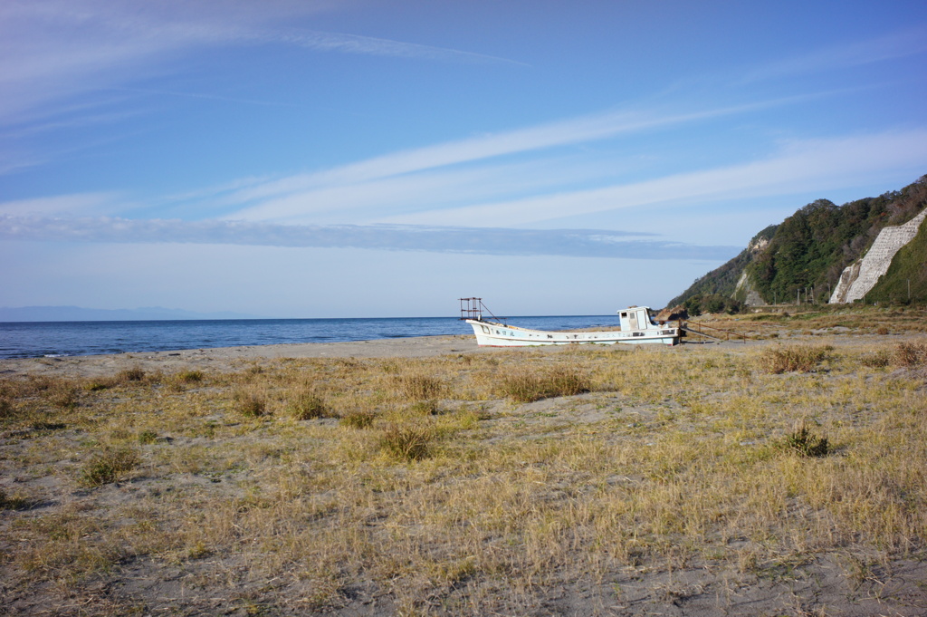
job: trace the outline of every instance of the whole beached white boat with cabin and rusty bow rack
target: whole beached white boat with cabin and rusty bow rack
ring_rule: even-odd
[[[594,343],[614,345],[625,343],[679,343],[680,328],[654,323],[646,306],[631,306],[618,311],[621,318],[618,330],[607,332],[549,332],[503,324],[498,318],[483,316],[486,307],[479,298],[461,298],[461,319],[473,327],[476,344],[480,347],[526,347],[531,345],[576,345]],[[491,313],[489,315],[492,315]]]

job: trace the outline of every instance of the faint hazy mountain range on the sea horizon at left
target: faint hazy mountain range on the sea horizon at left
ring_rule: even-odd
[[[154,321],[167,319],[263,319],[260,315],[245,315],[222,311],[196,313],[182,309],[146,306],[136,309],[88,309],[80,306],[21,306],[0,307],[0,321]]]

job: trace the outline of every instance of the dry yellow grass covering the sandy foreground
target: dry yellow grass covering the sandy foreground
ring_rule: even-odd
[[[606,614],[649,581],[642,610],[737,612],[739,589],[834,563],[884,587],[927,537],[924,341],[905,345],[843,341],[814,372],[684,346],[5,379],[7,610]],[[499,385],[564,375],[579,393]],[[796,422],[826,456],[782,447]]]

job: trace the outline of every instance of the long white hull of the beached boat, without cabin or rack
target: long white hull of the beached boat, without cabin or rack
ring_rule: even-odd
[[[679,343],[679,328],[656,328],[641,330],[614,330],[608,332],[548,332],[506,326],[491,321],[466,319],[473,327],[476,344],[480,347],[533,347],[536,345],[640,345]]]

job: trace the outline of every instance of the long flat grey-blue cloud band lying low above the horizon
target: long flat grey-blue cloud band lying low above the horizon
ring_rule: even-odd
[[[484,255],[555,255],[629,259],[729,259],[729,246],[698,246],[653,234],[589,229],[508,229],[422,225],[267,225],[244,221],[129,220],[110,217],[51,218],[0,214],[6,240],[116,243],[235,244],[274,247],[354,248]]]

